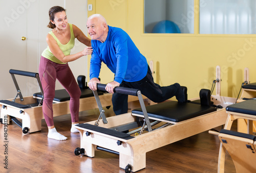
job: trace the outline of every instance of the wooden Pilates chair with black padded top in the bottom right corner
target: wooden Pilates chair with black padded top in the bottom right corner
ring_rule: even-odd
[[[225,127],[218,134],[221,140],[218,172],[224,172],[225,155],[228,151],[237,172],[256,172],[255,136],[252,135],[252,122],[256,120],[256,100],[247,100],[227,106]],[[229,131],[236,119],[247,119],[247,133]]]

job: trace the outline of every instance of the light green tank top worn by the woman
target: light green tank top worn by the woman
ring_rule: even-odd
[[[70,28],[70,34],[71,34],[71,37],[70,37],[70,40],[67,44],[61,44],[60,41],[57,39],[57,37],[54,35],[54,33],[52,31],[49,32],[49,34],[51,34],[53,36],[53,38],[57,41],[57,44],[60,48],[60,50],[63,52],[63,54],[65,56],[67,55],[70,55],[70,52],[71,52],[71,49],[74,47],[75,45],[75,35],[74,35],[74,32],[73,32],[73,27],[72,27],[72,24],[69,23],[69,28]],[[42,52],[42,57],[45,57],[57,64],[66,64],[61,62],[58,58],[56,58],[52,52],[50,51],[50,48],[49,46],[47,46],[47,48],[45,49],[44,52]]]

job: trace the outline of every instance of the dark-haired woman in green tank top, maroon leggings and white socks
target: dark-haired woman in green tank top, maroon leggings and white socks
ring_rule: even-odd
[[[48,126],[48,138],[66,140],[67,137],[59,134],[53,123],[52,103],[55,95],[56,79],[70,94],[70,112],[72,118],[71,132],[76,133],[74,128],[78,124],[80,88],[73,76],[68,62],[74,61],[82,56],[91,55],[91,40],[74,24],[68,23],[66,10],[54,6],[49,10],[50,22],[47,27],[53,29],[46,37],[48,47],[42,52],[39,64],[39,76],[44,90],[44,103],[42,112]],[[74,47],[75,38],[87,45],[83,51],[70,55]]]

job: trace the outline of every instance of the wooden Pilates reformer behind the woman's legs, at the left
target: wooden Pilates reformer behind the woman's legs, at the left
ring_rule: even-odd
[[[13,99],[0,101],[0,123],[9,125],[10,120],[12,120],[22,128],[24,134],[40,131],[41,119],[44,119],[41,108],[44,94],[38,92],[33,94],[33,96],[23,97],[22,91],[20,91],[15,78],[15,75],[36,78],[40,90],[42,91],[38,73],[14,69],[10,69],[9,72],[15,84],[17,94]],[[98,108],[92,90],[86,85],[86,77],[78,76],[77,81],[79,88],[81,89],[79,112]],[[102,107],[108,108],[112,105],[112,94],[103,93],[101,91],[97,92],[97,94],[101,98],[101,101],[103,101],[101,102]],[[55,90],[55,97],[53,100],[54,117],[70,113],[69,100],[70,95],[65,89]],[[135,100],[137,100],[137,97],[129,97],[129,102]],[[22,122],[17,118],[21,119]]]

